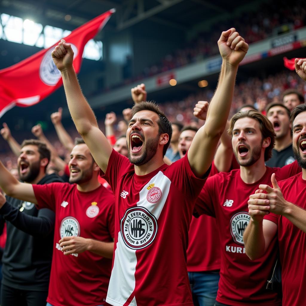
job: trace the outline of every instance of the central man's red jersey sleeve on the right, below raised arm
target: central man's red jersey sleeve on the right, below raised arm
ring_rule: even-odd
[[[210,170],[211,167],[204,174],[204,178],[196,177],[191,170],[186,153],[183,158],[168,167],[167,176],[188,199],[194,201],[199,196]]]

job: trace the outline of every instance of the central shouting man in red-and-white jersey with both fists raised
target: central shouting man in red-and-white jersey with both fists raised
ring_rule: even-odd
[[[164,164],[163,156],[171,139],[171,123],[155,103],[133,106],[127,130],[129,158],[118,154],[99,130],[80,90],[71,46],[62,40],[52,51],[76,128],[115,194],[109,304],[193,305],[186,267],[193,205],[226,126],[238,65],[248,50],[234,28],[222,32],[218,46],[222,69],[206,123],[185,157],[170,166]],[[195,108],[196,114],[202,111]]]

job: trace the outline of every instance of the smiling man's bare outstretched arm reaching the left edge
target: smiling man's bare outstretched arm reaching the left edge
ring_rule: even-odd
[[[2,162],[0,162],[0,187],[8,196],[37,204],[33,186],[18,181]]]

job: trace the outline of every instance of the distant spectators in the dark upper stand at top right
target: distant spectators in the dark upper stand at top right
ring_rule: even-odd
[[[167,54],[160,62],[144,68],[142,74],[125,80],[125,83],[137,81],[192,62],[198,62],[218,54],[215,42],[225,28],[235,27],[248,44],[266,39],[273,35],[301,28],[306,24],[306,9],[299,0],[262,3],[256,11],[241,12],[237,18],[230,18],[212,24],[214,31],[201,32],[188,42],[185,48]]]

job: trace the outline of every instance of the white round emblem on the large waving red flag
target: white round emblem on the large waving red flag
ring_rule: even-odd
[[[77,54],[77,48],[73,44],[71,44],[71,47],[74,52],[74,58],[75,58]],[[61,73],[56,68],[51,56],[51,52],[52,50],[54,50],[54,48],[55,46],[50,48],[45,53],[39,67],[40,80],[42,80],[46,85],[49,86],[55,86],[58,83],[58,80],[61,78]]]

